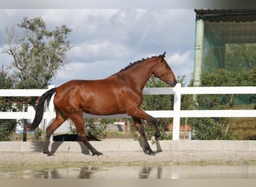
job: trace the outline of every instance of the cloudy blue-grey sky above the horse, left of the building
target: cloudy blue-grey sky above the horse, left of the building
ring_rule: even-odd
[[[52,85],[70,79],[103,79],[129,62],[166,52],[176,76],[192,78],[195,49],[193,9],[0,9],[0,46],[4,29],[22,17],[41,17],[49,29],[65,24],[73,31],[69,63]],[[0,64],[12,59],[0,53]]]

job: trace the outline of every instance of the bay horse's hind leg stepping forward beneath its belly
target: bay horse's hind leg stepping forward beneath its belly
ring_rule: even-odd
[[[88,141],[86,138],[86,133],[85,133],[85,126],[84,126],[84,120],[82,118],[82,114],[75,114],[73,113],[72,115],[69,116],[71,120],[73,120],[73,123],[75,123],[76,126],[76,132],[79,136],[79,140],[82,141],[85,146],[91,150],[92,155],[102,155],[103,153],[100,153],[97,151]]]

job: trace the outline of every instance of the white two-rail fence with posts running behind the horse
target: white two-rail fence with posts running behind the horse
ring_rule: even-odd
[[[48,90],[0,90],[1,96],[41,96]],[[173,140],[180,138],[180,117],[256,117],[256,110],[180,110],[181,95],[183,94],[251,94],[256,93],[256,87],[181,87],[177,84],[174,88],[144,88],[144,95],[174,94],[174,110],[146,111],[153,117],[173,117]],[[1,98],[0,98],[1,99]],[[49,106],[51,111],[53,105]],[[54,114],[45,111],[43,119],[52,120]],[[116,114],[110,116],[95,116],[84,114],[91,118],[120,118],[129,117],[127,114]],[[34,110],[28,112],[1,112],[0,119],[33,119]]]

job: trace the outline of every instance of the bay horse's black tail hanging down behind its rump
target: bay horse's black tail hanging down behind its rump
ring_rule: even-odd
[[[40,97],[39,102],[37,103],[34,121],[27,126],[28,131],[34,131],[35,129],[37,129],[37,126],[39,126],[41,120],[43,119],[44,102],[47,99],[47,105],[49,105],[49,101],[51,100],[51,97],[53,93],[55,93],[55,91],[56,88],[52,88],[51,90],[46,91],[46,93],[43,93],[43,95]]]

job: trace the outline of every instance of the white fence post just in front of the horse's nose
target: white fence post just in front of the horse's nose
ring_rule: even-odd
[[[174,120],[173,120],[173,130],[172,139],[180,139],[180,102],[181,102],[181,84],[177,83],[174,87]]]

